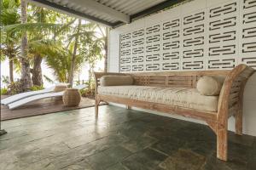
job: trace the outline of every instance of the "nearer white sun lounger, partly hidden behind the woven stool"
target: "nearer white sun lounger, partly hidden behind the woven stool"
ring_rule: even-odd
[[[83,89],[83,88],[86,88],[86,87],[87,87],[87,85],[79,85],[79,86],[76,86],[76,87],[73,87],[73,88],[77,88],[77,89],[80,90],[80,89]],[[15,101],[15,102],[9,104],[8,106],[9,106],[10,110],[13,110],[13,109],[15,109],[17,107],[20,107],[21,105],[25,105],[25,104],[27,104],[29,102],[32,102],[32,101],[35,101],[35,100],[38,100],[38,99],[59,97],[59,96],[62,96],[63,94],[64,94],[64,91],[56,92],[56,93],[33,95],[31,97]]]

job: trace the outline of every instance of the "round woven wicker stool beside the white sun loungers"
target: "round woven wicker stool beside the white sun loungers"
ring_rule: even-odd
[[[79,93],[79,89],[67,88],[63,94],[62,99],[65,106],[78,106],[81,101],[81,94]]]

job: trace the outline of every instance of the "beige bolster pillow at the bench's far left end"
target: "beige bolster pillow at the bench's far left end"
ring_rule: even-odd
[[[133,78],[129,75],[121,76],[121,75],[108,75],[100,78],[101,86],[125,86],[132,85]]]

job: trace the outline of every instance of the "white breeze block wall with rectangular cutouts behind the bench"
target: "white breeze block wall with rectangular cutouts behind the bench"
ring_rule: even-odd
[[[195,0],[145,17],[110,31],[108,53],[112,72],[256,69],[256,0]],[[244,133],[256,136],[256,74],[243,113]]]

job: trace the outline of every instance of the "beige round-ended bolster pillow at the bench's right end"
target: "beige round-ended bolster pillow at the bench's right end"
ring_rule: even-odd
[[[224,77],[201,77],[196,88],[202,95],[215,96],[219,95],[222,85],[224,83]]]

